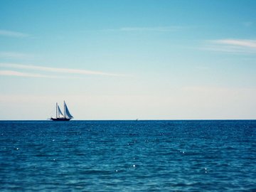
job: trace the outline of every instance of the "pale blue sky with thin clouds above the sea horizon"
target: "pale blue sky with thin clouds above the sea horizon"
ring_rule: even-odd
[[[0,120],[256,119],[256,1],[0,0]]]

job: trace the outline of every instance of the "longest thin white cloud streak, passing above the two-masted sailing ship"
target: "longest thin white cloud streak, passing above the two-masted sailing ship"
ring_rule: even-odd
[[[4,68],[16,68],[16,69],[23,69],[23,70],[37,70],[37,71],[45,71],[50,73],[68,73],[70,75],[80,74],[80,75],[107,75],[107,76],[124,76],[114,73],[104,73],[100,71],[93,71],[93,70],[80,70],[80,69],[70,69],[70,68],[48,68],[43,66],[36,66],[36,65],[20,65],[14,63],[0,63],[1,67]],[[0,74],[1,75],[1,74]],[[36,74],[38,76],[38,74]],[[39,77],[39,76],[38,76]],[[48,75],[41,76],[42,78],[49,77]]]

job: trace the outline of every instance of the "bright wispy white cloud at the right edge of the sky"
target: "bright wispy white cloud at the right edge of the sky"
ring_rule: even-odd
[[[226,53],[255,54],[256,41],[254,39],[218,39],[206,41],[204,50],[213,50]]]

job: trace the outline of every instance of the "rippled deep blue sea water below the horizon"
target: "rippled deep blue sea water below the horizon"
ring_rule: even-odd
[[[1,191],[256,191],[256,121],[1,121]]]

